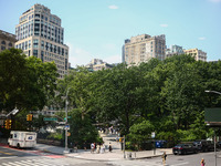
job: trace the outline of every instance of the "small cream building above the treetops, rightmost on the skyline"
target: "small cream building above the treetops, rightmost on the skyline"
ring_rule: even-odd
[[[196,61],[207,61],[207,52],[203,52],[202,50],[189,49],[185,50],[185,53],[192,55]]]

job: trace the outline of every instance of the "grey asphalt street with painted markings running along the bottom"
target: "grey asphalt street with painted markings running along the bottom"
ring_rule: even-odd
[[[96,155],[96,154],[95,154]],[[207,166],[214,166],[214,153],[199,153],[191,155],[168,155],[167,166],[199,166],[204,158]],[[161,157],[145,159],[118,159],[109,162],[80,159],[55,155],[36,149],[17,149],[0,146],[1,166],[162,166]],[[218,152],[217,166],[221,166],[221,153]]]

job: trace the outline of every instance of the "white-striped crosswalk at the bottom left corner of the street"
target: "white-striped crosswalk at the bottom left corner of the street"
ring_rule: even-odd
[[[70,164],[55,164],[50,159],[23,159],[18,162],[0,163],[0,166],[70,166]]]

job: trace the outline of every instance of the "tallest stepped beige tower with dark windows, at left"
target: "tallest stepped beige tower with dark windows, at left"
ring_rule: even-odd
[[[60,79],[67,74],[69,46],[64,42],[64,29],[61,19],[51,14],[42,4],[34,4],[22,13],[15,28],[17,49],[28,55],[34,55],[42,62],[54,61]]]

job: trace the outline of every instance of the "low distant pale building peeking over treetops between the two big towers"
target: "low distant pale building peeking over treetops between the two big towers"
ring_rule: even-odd
[[[103,60],[99,59],[93,59],[87,65],[87,69],[91,69],[92,71],[101,71],[103,69],[112,69],[113,65],[104,62]]]

